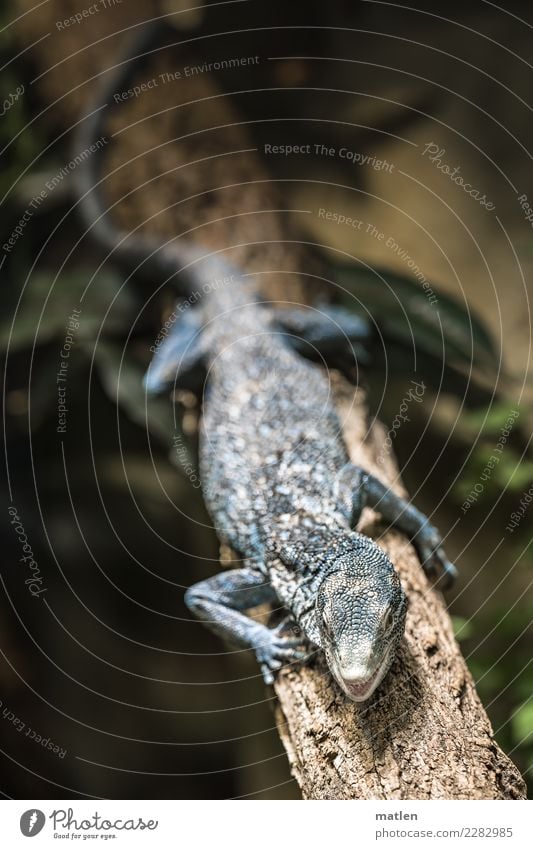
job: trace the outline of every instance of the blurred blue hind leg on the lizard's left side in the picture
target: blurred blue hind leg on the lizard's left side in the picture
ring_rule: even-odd
[[[154,356],[144,377],[147,392],[201,388],[206,371],[202,318],[202,310],[190,306],[183,312],[178,306],[169,316],[152,346]]]

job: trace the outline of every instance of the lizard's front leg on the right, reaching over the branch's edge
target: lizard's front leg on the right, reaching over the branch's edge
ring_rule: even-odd
[[[452,585],[457,577],[457,569],[446,557],[438,530],[430,524],[427,516],[409,501],[396,495],[378,478],[352,463],[347,463],[341,469],[336,481],[336,491],[352,527],[357,525],[363,507],[372,507],[381,513],[386,521],[411,538],[422,567],[428,575],[433,575],[440,569],[444,585]]]

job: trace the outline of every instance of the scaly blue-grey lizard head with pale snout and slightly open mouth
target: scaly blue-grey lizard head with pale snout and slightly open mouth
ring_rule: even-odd
[[[344,554],[322,581],[316,625],[330,671],[355,702],[388,672],[405,627],[407,601],[385,552],[372,540]]]

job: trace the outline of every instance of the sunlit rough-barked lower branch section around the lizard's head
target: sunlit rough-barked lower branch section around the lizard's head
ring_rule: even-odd
[[[334,394],[352,460],[405,495],[383,451],[383,426],[368,426],[363,392],[338,377]],[[518,770],[493,739],[442,596],[413,547],[395,531],[380,534],[372,510],[365,509],[360,529],[379,540],[401,575],[409,599],[405,640],[368,703],[348,702],[321,660],[278,677],[278,729],[304,798],[524,798]]]

